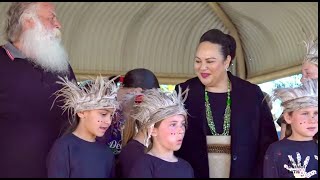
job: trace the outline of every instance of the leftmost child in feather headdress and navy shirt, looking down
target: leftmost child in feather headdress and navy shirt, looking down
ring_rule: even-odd
[[[114,176],[114,155],[96,137],[104,135],[118,107],[116,84],[101,76],[82,86],[64,78],[58,83],[63,88],[55,95],[63,98],[62,108],[71,115],[71,126],[49,153],[48,177]]]

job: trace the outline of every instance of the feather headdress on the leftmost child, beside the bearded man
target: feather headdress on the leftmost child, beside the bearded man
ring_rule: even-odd
[[[55,92],[56,99],[62,97],[62,109],[74,117],[76,113],[84,110],[118,108],[117,85],[114,80],[107,80],[101,76],[83,85],[78,85],[67,78],[59,77],[63,87]]]

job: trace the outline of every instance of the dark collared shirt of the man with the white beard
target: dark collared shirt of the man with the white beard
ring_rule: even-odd
[[[35,67],[12,44],[0,47],[0,177],[47,177],[46,157],[68,123],[58,76]]]

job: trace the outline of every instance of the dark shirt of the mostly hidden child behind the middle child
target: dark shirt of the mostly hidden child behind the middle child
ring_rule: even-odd
[[[127,178],[134,163],[143,156],[145,146],[137,140],[131,140],[123,147],[118,157],[117,175],[118,177]]]

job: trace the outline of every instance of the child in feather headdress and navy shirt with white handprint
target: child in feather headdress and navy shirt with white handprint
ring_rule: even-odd
[[[318,143],[318,80],[306,80],[298,88],[274,91],[283,117],[291,127],[284,139],[271,144],[264,159],[264,177],[317,178]]]

